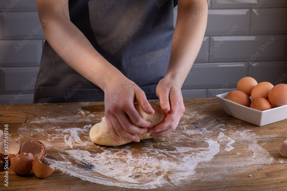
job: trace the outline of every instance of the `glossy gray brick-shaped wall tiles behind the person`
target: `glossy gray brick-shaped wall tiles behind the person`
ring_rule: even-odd
[[[287,83],[286,0],[208,5],[205,37],[183,84],[184,98],[215,97],[236,89],[245,76]],[[1,0],[0,10],[0,104],[32,103],[45,38],[35,0]],[[177,8],[174,13],[176,19]]]

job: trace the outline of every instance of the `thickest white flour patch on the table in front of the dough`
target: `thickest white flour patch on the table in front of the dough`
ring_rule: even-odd
[[[97,184],[134,189],[159,188],[164,185],[183,185],[195,174],[198,163],[212,160],[219,152],[220,145],[213,140],[206,140],[205,143],[206,147],[200,149],[183,147],[179,143],[172,146],[169,144],[169,150],[172,151],[167,151],[164,149],[166,143],[160,143],[158,147],[146,142],[141,148],[144,154],[138,156],[138,150],[131,146],[101,147],[101,153],[79,149],[66,150],[65,158],[81,162],[88,168],[88,172],[76,165],[67,169],[66,164],[48,157],[46,161],[62,172]]]

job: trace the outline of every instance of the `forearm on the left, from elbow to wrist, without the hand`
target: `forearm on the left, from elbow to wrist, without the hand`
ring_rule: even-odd
[[[51,47],[82,76],[104,90],[112,78],[124,78],[117,68],[105,60],[84,34],[65,15],[51,16],[44,34]],[[100,75],[98,75],[100,74]],[[104,78],[103,76],[109,76]]]

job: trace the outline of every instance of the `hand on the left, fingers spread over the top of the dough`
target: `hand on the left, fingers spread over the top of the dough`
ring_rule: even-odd
[[[117,131],[126,139],[139,142],[137,135],[145,133],[152,123],[139,115],[134,103],[139,102],[145,113],[154,113],[144,91],[133,81],[122,78],[114,80],[114,83],[104,88],[104,92],[105,116],[111,137],[121,144],[122,140],[117,135]],[[131,123],[129,117],[135,125]]]

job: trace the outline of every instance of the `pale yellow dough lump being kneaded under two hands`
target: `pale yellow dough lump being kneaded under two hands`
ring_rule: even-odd
[[[160,105],[154,103],[153,101],[150,102],[150,105],[152,106],[152,108],[154,109],[154,114],[149,115],[147,113],[145,113],[139,103],[135,103],[135,109],[139,112],[139,115],[141,115],[142,118],[144,118],[147,121],[152,122],[152,126],[158,125],[160,124],[164,118],[166,118],[167,116],[167,112],[163,111],[160,108]],[[149,127],[150,128],[150,127]],[[117,131],[116,131],[117,132]],[[98,144],[98,145],[108,145],[108,146],[117,146],[117,145],[123,145],[126,143],[131,142],[130,140],[124,138],[121,134],[119,134],[117,132],[117,134],[121,137],[122,139],[122,143],[119,144],[117,143],[111,136],[110,136],[110,132],[108,131],[108,125],[106,122],[106,117],[102,117],[102,121],[100,123],[97,123],[96,125],[94,125],[91,129],[90,129],[90,139]],[[151,133],[144,133],[142,135],[138,135],[139,140],[142,139],[150,139],[150,138],[154,138],[150,136]]]

